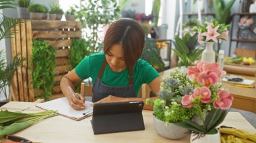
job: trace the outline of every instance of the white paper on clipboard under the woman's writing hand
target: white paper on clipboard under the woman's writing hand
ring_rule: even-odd
[[[51,101],[46,101],[44,103],[36,104],[36,107],[40,107],[46,110],[57,110],[60,115],[69,117],[73,120],[82,120],[90,115],[92,115],[92,102],[86,101],[86,109],[76,110],[69,105],[67,97],[61,97]],[[83,115],[85,113],[85,115]]]

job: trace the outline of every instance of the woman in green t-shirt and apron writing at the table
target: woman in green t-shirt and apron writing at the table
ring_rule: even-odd
[[[113,22],[104,37],[104,53],[87,56],[61,80],[61,91],[74,109],[84,109],[84,97],[72,95],[71,88],[88,77],[92,78],[92,100],[97,103],[144,101],[137,98],[143,83],[158,93],[160,76],[148,62],[139,59],[145,44],[145,34],[133,19]],[[156,97],[154,97],[156,98]],[[144,105],[144,109],[152,109]]]

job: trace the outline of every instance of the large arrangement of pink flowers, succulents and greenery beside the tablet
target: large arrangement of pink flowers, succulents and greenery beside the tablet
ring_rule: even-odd
[[[218,133],[216,127],[226,117],[233,100],[219,82],[225,74],[216,62],[199,62],[189,66],[187,73],[175,70],[162,80],[154,115],[166,124],[191,130],[197,138]]]

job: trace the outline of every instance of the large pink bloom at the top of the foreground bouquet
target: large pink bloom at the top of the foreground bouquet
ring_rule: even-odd
[[[201,83],[205,87],[210,87],[210,85],[215,85],[218,83],[218,75],[214,72],[202,72],[197,76],[197,82]]]

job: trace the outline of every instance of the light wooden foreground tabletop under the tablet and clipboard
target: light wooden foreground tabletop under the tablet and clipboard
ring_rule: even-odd
[[[29,102],[9,102],[0,109],[8,109],[9,111],[20,111],[35,113],[42,109],[35,107],[36,103]],[[189,136],[181,140],[168,140],[158,135],[153,124],[152,111],[143,111],[143,120],[145,130],[134,132],[119,132],[112,134],[94,135],[90,120],[88,117],[82,121],[71,120],[61,115],[42,120],[25,130],[14,135],[28,138],[33,142],[189,142]],[[232,126],[255,132],[255,128],[245,120],[238,112],[230,112],[222,123],[225,126]]]

